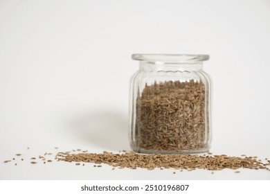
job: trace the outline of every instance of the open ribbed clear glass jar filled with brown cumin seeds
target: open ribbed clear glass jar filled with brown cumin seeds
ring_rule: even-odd
[[[134,152],[195,153],[210,148],[209,55],[134,54],[129,141]]]

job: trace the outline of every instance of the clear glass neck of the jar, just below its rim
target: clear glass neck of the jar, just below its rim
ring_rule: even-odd
[[[143,71],[201,71],[203,62],[147,62],[140,61],[140,69]]]

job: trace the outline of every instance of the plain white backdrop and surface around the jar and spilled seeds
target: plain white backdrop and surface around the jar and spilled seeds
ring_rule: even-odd
[[[267,170],[30,164],[45,152],[131,151],[132,53],[209,54],[211,152],[270,158],[269,0],[2,0],[0,179],[270,179]],[[17,153],[17,166],[2,163]]]

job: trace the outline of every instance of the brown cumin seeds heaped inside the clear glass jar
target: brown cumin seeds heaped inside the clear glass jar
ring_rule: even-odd
[[[208,147],[208,91],[204,83],[168,81],[145,85],[136,99],[136,147],[203,150]]]

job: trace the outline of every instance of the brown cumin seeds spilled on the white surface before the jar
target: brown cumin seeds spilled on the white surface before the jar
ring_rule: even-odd
[[[123,154],[113,154],[111,152],[96,153],[79,153],[69,154],[59,152],[56,155],[60,161],[68,162],[90,162],[96,164],[108,164],[109,166],[119,168],[177,168],[186,170],[195,170],[197,168],[206,170],[222,170],[224,168],[250,168],[250,169],[267,169],[267,164],[255,159],[255,157],[229,157],[227,155],[161,155],[150,154],[141,155],[134,152],[125,152]]]

